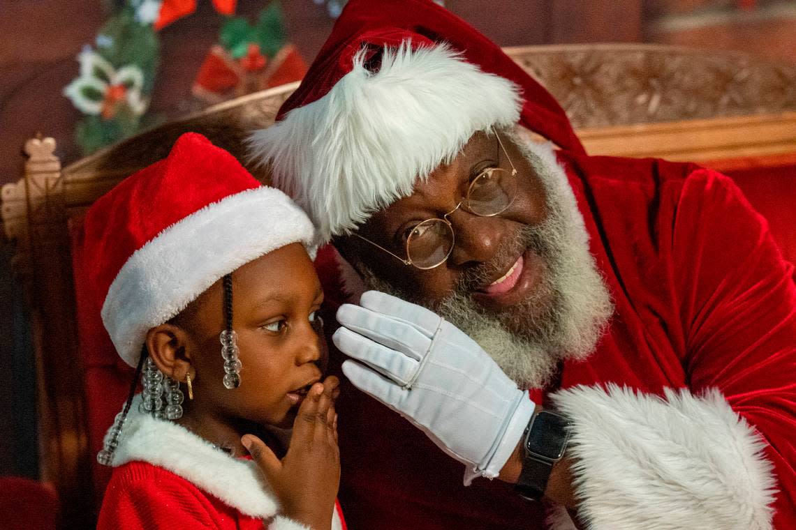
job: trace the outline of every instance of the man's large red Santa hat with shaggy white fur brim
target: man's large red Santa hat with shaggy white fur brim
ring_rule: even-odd
[[[490,126],[519,122],[583,151],[548,91],[430,0],[351,0],[277,118],[250,152],[324,241],[410,195]]]

